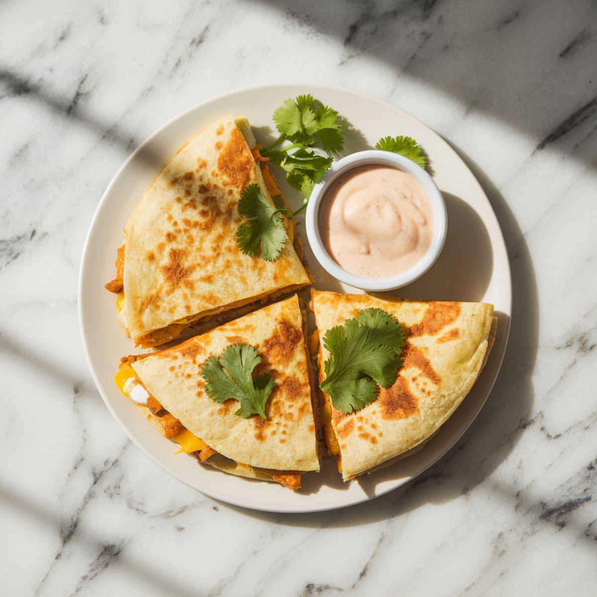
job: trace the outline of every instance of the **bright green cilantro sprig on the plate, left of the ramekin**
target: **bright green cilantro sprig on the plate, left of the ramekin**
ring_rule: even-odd
[[[306,94],[285,100],[273,113],[273,121],[280,136],[261,150],[261,155],[278,164],[288,184],[308,201],[313,187],[330,168],[333,154],[344,147],[338,112]]]

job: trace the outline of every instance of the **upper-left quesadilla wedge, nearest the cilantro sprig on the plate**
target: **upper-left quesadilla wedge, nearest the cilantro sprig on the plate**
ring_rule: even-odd
[[[137,346],[159,346],[200,320],[228,321],[310,284],[285,216],[288,238],[277,259],[239,250],[236,232],[247,220],[238,203],[251,184],[271,205],[272,194],[281,195],[248,121],[232,116],[196,134],[156,176],[128,220],[116,278],[106,284]]]

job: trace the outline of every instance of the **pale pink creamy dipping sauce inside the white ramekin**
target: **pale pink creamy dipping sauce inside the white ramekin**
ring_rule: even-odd
[[[427,253],[433,208],[410,174],[390,166],[360,166],[325,192],[319,232],[330,257],[348,272],[392,278]]]

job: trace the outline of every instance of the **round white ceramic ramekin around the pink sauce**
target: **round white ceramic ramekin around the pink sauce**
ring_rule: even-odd
[[[392,278],[364,278],[363,276],[357,276],[354,273],[347,272],[330,257],[330,254],[325,250],[324,243],[319,233],[319,207],[321,205],[321,200],[330,185],[338,178],[338,176],[352,170],[352,168],[372,164],[392,166],[410,174],[423,185],[433,209],[433,237],[427,253],[423,256],[423,259],[421,259],[415,266],[411,267],[410,270],[401,273],[398,276],[393,276]],[[346,156],[346,158],[342,158],[332,164],[330,170],[325,173],[324,179],[321,183],[315,185],[315,188],[311,193],[309,204],[307,205],[305,225],[309,245],[315,258],[331,276],[334,276],[334,278],[340,280],[340,282],[345,282],[356,288],[380,292],[394,290],[395,288],[400,288],[414,282],[417,278],[422,276],[433,263],[435,263],[435,260],[438,258],[444,247],[444,241],[448,230],[448,217],[441,192],[439,192],[433,179],[423,170],[423,168],[410,159],[398,155],[398,153],[371,149],[352,153],[351,155]]]

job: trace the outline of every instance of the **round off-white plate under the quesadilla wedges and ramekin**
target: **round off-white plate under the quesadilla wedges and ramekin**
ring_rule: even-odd
[[[422,278],[398,293],[404,297],[493,303],[500,319],[498,336],[484,371],[456,413],[437,435],[412,457],[344,484],[336,459],[324,461],[322,472],[304,476],[297,493],[281,485],[226,475],[194,458],[174,456],[174,445],[147,424],[133,402],[113,382],[119,358],[136,352],[116,321],[115,297],[103,285],[113,278],[116,248],[134,206],[156,173],[180,145],[220,116],[247,116],[258,141],[268,144],[277,135],[272,113],[287,97],[310,93],[334,107],[346,119],[344,155],[367,149],[386,135],[408,135],[423,146],[433,177],[448,209],[444,251]],[[278,180],[281,173],[275,171]],[[291,207],[301,202],[294,190],[282,186]],[[304,227],[299,227],[306,241]],[[315,287],[341,290],[313,258]],[[355,291],[344,287],[346,291]],[[395,106],[356,91],[328,85],[267,85],[217,97],[165,124],[128,158],[106,189],[85,242],[79,279],[79,318],[85,352],[101,397],[128,436],[162,469],[208,496],[237,506],[273,512],[315,512],[381,496],[419,475],[441,458],[477,416],[496,380],[510,327],[512,285],[504,239],[490,202],[473,174],[453,149],[430,128]]]

